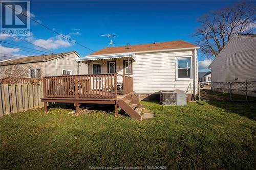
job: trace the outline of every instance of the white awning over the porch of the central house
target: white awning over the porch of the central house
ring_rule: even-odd
[[[134,61],[135,54],[134,53],[125,53],[125,54],[116,54],[116,55],[97,55],[92,57],[80,57],[76,58],[75,61],[94,61],[94,60],[106,60],[106,59],[117,59],[117,58],[127,58],[131,57]]]

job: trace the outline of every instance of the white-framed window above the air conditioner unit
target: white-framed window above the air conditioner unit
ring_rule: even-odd
[[[191,79],[191,57],[176,58],[176,78]]]

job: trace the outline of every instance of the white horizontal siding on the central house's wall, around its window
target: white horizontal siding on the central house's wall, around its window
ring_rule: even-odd
[[[139,94],[152,94],[160,90],[188,89],[187,93],[193,93],[193,79],[176,80],[175,78],[175,57],[181,56],[192,56],[193,78],[194,54],[191,51],[136,55],[136,62],[133,63],[134,91]]]

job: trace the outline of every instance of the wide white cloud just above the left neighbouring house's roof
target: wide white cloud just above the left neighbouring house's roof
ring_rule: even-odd
[[[66,36],[68,37],[68,36]],[[51,37],[49,39],[37,39],[32,41],[33,44],[47,48],[49,50],[61,47],[69,47],[72,44],[60,36]]]

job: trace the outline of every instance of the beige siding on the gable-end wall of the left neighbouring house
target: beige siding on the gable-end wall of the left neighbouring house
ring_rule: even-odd
[[[76,53],[66,55],[64,58],[58,58],[45,62],[45,76],[60,76],[62,75],[62,69],[71,70],[72,75],[76,75],[76,61],[74,60],[79,56]],[[80,63],[80,75],[88,74],[88,68],[86,64]]]

